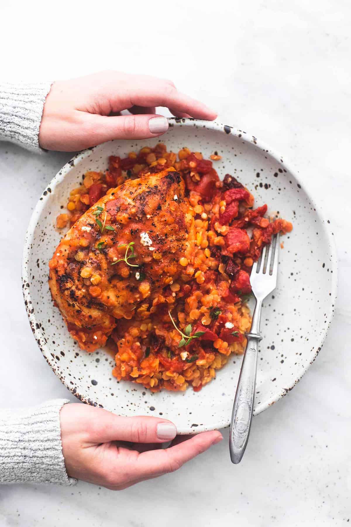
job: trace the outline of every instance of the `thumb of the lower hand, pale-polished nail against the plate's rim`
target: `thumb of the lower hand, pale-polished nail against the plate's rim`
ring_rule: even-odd
[[[89,440],[96,443],[162,443],[171,441],[176,434],[176,426],[166,419],[149,416],[123,417],[106,410],[101,411],[89,426]]]

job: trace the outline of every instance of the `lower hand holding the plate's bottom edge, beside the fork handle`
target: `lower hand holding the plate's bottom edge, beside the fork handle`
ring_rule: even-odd
[[[223,439],[218,431],[203,432],[162,449],[177,433],[166,419],[120,417],[79,403],[65,404],[60,418],[67,474],[111,490],[174,472]]]

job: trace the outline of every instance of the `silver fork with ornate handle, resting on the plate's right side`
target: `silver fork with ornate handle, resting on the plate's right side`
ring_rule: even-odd
[[[234,399],[232,421],[230,422],[229,451],[232,463],[240,463],[250,433],[255,399],[257,347],[262,337],[259,334],[263,300],[277,285],[279,255],[279,233],[266,245],[260,258],[252,266],[250,284],[256,299],[250,333]]]

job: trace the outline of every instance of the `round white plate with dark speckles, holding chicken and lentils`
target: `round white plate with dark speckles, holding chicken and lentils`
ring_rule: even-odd
[[[286,395],[313,363],[333,316],[337,260],[333,233],[305,189],[303,179],[283,159],[253,135],[219,123],[172,119],[162,141],[168,150],[183,146],[208,157],[223,156],[215,164],[220,177],[235,175],[255,196],[257,206],[293,222],[280,250],[278,286],[262,314],[254,413]],[[113,358],[103,349],[88,354],[69,336],[47,285],[48,261],[62,236],[55,219],[69,191],[87,170],[104,170],[111,154],[125,157],[148,141],[109,141],[69,161],[43,192],[29,223],[23,257],[24,299],[34,336],[48,364],[81,401],[122,415],[162,415],[181,434],[229,424],[241,357],[232,356],[216,379],[195,393],[162,391],[152,394],[112,376]]]

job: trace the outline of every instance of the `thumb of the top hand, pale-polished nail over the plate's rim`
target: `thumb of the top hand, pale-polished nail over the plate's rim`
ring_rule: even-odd
[[[167,119],[155,114],[119,116],[90,114],[88,121],[93,127],[94,138],[98,143],[111,139],[148,139],[168,130]]]

